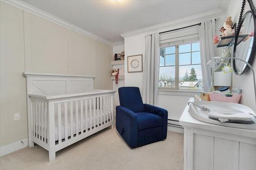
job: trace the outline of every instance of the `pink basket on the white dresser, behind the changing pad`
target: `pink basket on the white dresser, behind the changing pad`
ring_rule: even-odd
[[[232,97],[227,97],[222,94],[214,94],[214,93],[209,93],[210,94],[210,101],[215,101],[215,102],[229,102],[229,103],[239,103],[242,94],[232,94]]]

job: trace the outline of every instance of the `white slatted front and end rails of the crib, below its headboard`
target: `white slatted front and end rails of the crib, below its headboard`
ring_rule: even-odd
[[[114,120],[112,90],[81,95],[30,97],[31,134],[33,142],[58,151],[87,137]]]

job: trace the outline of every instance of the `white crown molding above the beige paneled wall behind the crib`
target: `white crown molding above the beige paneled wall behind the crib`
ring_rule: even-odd
[[[73,25],[72,23],[70,23],[68,21],[65,21],[65,20],[60,19],[60,18],[58,18],[58,17],[56,17],[54,15],[51,15],[51,14],[45,12],[45,11],[42,11],[42,10],[40,10],[38,8],[35,8],[35,7],[25,3],[23,1],[20,1],[20,0],[0,0],[0,1],[4,2],[6,4],[9,4],[11,6],[14,6],[16,8],[22,9],[24,11],[27,11],[29,13],[32,13],[32,14],[34,14],[36,16],[41,17],[41,18],[47,19],[47,20],[49,20],[51,22],[57,23],[58,25],[60,25],[62,27],[65,27],[65,28],[73,30],[73,31],[75,31],[77,33],[80,33],[80,34],[83,34],[85,36],[88,36],[88,37],[90,37],[92,39],[95,39],[97,41],[100,41],[100,42],[103,42],[105,44],[113,46],[112,42],[110,42],[108,40],[105,40],[104,38],[102,38],[100,36],[97,36],[97,35],[89,32],[87,30],[84,30],[84,29],[82,29],[80,27],[77,27],[77,26]]]

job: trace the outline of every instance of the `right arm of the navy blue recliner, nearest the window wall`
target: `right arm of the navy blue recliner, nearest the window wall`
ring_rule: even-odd
[[[163,138],[162,139],[166,139],[167,123],[168,123],[168,111],[163,109],[163,108],[148,105],[148,104],[144,104],[144,108],[145,108],[146,112],[156,114],[156,115],[162,117],[162,119],[163,119]]]

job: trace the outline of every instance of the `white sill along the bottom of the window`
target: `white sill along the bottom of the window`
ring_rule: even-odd
[[[180,95],[180,96],[189,96],[193,97],[194,95],[200,95],[201,92],[200,90],[158,90],[157,94],[158,95]]]

